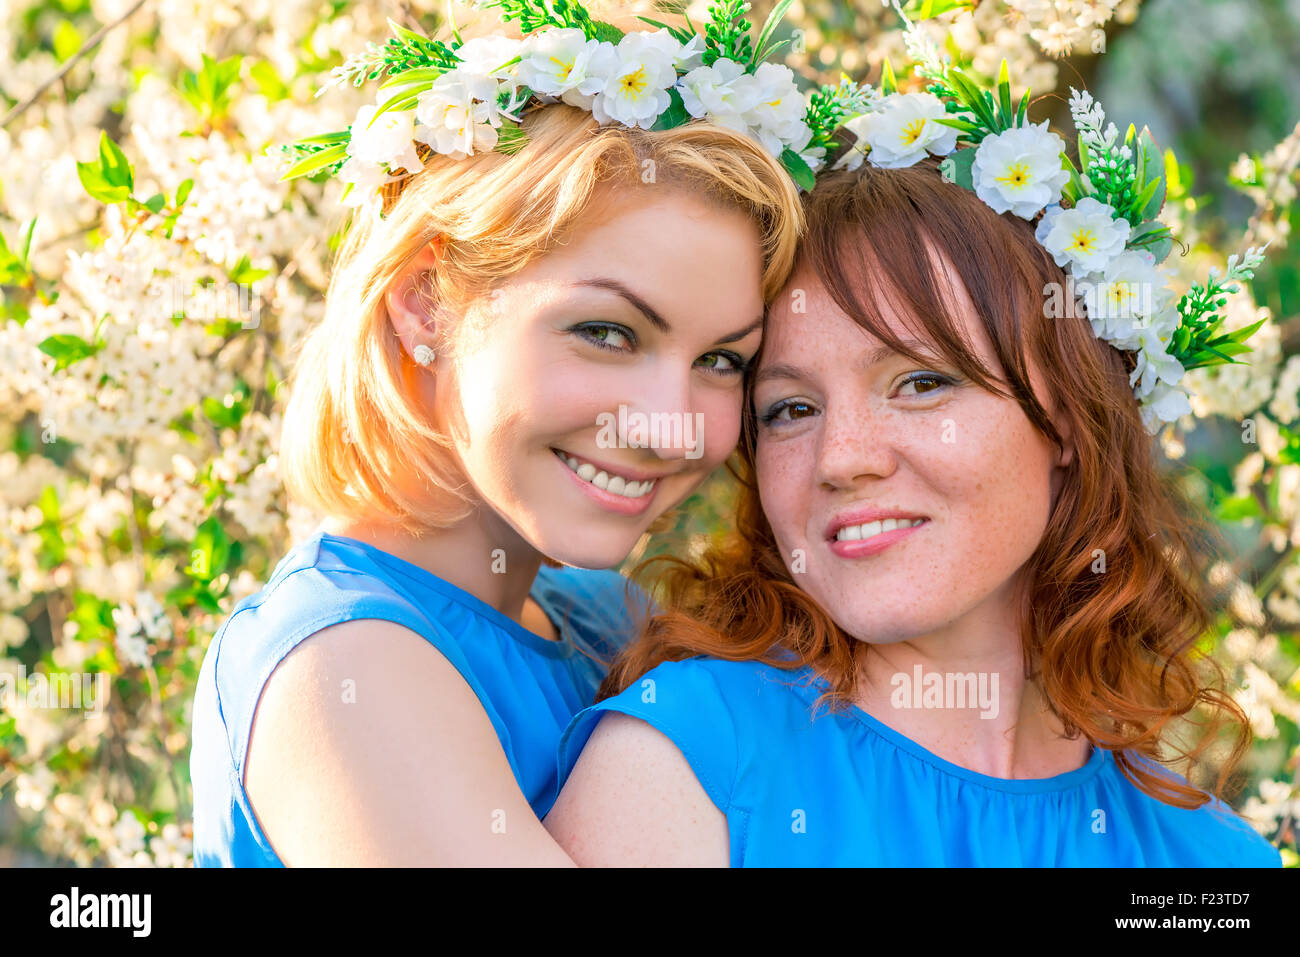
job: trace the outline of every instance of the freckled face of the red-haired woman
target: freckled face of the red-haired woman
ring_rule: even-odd
[[[1001,380],[965,289],[945,273],[967,342]],[[901,316],[884,315],[911,338]],[[801,269],[771,307],[754,411],[759,494],[785,564],[849,635],[887,644],[963,633],[956,625],[971,615],[1006,620],[1061,477],[1056,446],[1015,400],[888,348]]]

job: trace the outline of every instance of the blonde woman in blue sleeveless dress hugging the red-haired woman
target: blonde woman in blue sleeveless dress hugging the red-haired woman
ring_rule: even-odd
[[[624,61],[659,56],[646,36]],[[290,495],[326,518],[199,679],[200,866],[571,863],[540,823],[555,748],[638,627],[621,576],[586,570],[732,452],[802,222],[757,138],[602,125],[592,100],[521,114],[517,151],[422,150],[351,225],[281,449]],[[676,441],[637,429],[654,415],[682,417]]]

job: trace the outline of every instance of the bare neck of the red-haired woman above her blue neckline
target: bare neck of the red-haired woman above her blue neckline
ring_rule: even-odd
[[[864,651],[854,703],[945,761],[1006,779],[1052,778],[1088,761],[1088,741],[1066,739],[1024,677],[1009,602]]]

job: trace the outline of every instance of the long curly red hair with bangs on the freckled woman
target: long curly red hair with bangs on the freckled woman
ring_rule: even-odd
[[[1228,753],[1212,775],[1221,796],[1251,741],[1244,713],[1217,687],[1222,671],[1197,648],[1212,622],[1197,560],[1212,558],[1222,540],[1183,495],[1178,476],[1157,467],[1128,384],[1132,356],[1097,339],[1080,312],[1048,317],[1049,283],[1069,286],[1034,225],[945,182],[933,160],[833,172],[803,204],[809,231],[798,265],[811,268],[848,316],[918,361],[924,358],[900,342],[879,303],[924,317],[920,325],[944,358],[1018,402],[1061,446],[1030,386],[1032,356],[1071,426],[1075,455],[1043,540],[1018,576],[1026,676],[1039,683],[1069,736],[1113,752],[1138,788],[1171,805],[1197,807],[1209,794],[1160,766],[1200,771],[1226,735]],[[965,283],[1005,382],[963,342],[931,247]],[[696,560],[660,555],[637,566],[633,576],[662,609],[612,664],[597,700],[660,662],[707,654],[786,670],[811,664],[829,685],[819,703],[840,710],[852,702],[866,648],[794,584],[759,503],[754,451],[748,394],[731,463],[736,528]],[[1092,571],[1095,549],[1104,550],[1108,573]]]

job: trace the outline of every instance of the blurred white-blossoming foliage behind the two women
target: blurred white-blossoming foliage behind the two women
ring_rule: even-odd
[[[688,9],[698,23],[706,8]],[[992,78],[1006,59],[1035,120],[1069,129],[1069,87],[1087,86],[1121,129],[1148,125],[1167,151],[1184,283],[1270,243],[1228,304],[1230,328],[1273,320],[1251,365],[1193,373],[1195,413],[1158,441],[1232,549],[1208,570],[1219,612],[1205,645],[1256,736],[1234,805],[1295,865],[1300,0],[907,9],[937,13],[924,29],[968,69]],[[370,94],[313,98],[328,70],[382,42],[387,17],[433,33],[443,13],[0,0],[0,675],[16,689],[0,700],[0,866],[190,863],[203,650],[317,520],[285,501],[276,450],[282,382],[343,225],[339,185],[281,183],[263,150],[344,129]],[[810,83],[875,82],[884,57],[906,60],[896,27],[879,0],[797,0],[788,62]],[[731,494],[716,475],[624,567],[698,549]],[[34,676],[61,672],[105,675],[103,710],[31,706]]]

